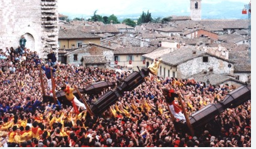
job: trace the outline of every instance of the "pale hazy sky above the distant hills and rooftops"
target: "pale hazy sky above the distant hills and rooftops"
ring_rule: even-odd
[[[232,3],[248,4],[250,0],[222,0]],[[202,4],[218,4],[221,0],[202,0]],[[58,11],[62,14],[84,14],[91,16],[95,10],[97,14],[134,14],[142,11],[170,12],[170,14],[189,13],[189,0],[59,0]],[[215,5],[216,6],[216,5]],[[228,8],[228,6],[226,6]],[[243,5],[238,6],[241,11]],[[213,8],[216,9],[216,8]],[[237,9],[237,8],[234,8]]]

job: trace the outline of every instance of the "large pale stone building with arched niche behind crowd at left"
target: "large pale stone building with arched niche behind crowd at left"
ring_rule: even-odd
[[[16,49],[24,35],[26,48],[40,57],[58,53],[57,0],[0,0],[0,20],[0,48]]]

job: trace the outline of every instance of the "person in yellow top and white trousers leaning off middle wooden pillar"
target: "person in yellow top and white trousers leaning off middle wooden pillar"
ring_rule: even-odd
[[[65,96],[66,96],[67,100],[72,102],[72,105],[73,105],[73,108],[74,108],[74,111],[75,111],[76,114],[79,114],[77,106],[79,106],[82,109],[86,110],[86,106],[84,106],[84,104],[82,102],[80,102],[77,99],[77,97],[74,96],[74,94],[73,94],[74,89],[73,88],[71,88],[69,85],[66,85],[66,86],[62,87],[62,91],[65,92]]]

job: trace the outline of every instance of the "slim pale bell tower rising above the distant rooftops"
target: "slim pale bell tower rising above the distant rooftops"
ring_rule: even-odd
[[[190,0],[191,19],[198,21],[201,20],[201,1]]]

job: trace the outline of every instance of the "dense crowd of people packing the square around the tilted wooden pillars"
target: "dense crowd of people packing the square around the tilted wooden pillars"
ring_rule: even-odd
[[[20,48],[20,47],[18,47]],[[58,102],[43,102],[40,67],[48,63],[36,52],[13,47],[0,50],[0,146],[251,146],[250,101],[216,115],[200,135],[175,130],[162,88],[181,94],[186,113],[223,100],[235,87],[214,86],[199,80],[151,75],[133,91],[124,92],[116,104],[100,116]],[[57,91],[64,84],[84,88],[94,82],[120,82],[130,72],[52,63]],[[51,94],[47,77],[45,92]],[[92,104],[101,94],[83,94]],[[177,102],[177,100],[175,100]],[[177,104],[179,104],[177,102]]]

